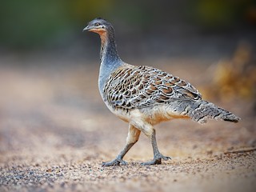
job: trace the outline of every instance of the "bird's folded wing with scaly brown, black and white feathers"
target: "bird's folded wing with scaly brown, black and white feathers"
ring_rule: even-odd
[[[201,99],[190,83],[150,66],[126,66],[110,75],[105,100],[113,108],[135,109],[174,100]]]

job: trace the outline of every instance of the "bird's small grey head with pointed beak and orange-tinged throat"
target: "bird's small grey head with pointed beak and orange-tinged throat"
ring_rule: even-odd
[[[103,18],[94,18],[94,20],[88,22],[88,25],[82,31],[91,31],[97,34],[106,33],[110,30],[111,24]]]

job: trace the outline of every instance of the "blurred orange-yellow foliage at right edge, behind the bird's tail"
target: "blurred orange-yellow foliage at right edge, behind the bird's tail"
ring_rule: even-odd
[[[220,61],[214,69],[210,85],[203,88],[206,98],[223,101],[256,98],[256,63],[249,44],[239,44],[230,60]]]

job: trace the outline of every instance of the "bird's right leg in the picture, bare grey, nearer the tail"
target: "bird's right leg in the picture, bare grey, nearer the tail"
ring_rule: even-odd
[[[151,143],[153,146],[153,152],[154,152],[154,159],[150,162],[143,162],[142,165],[156,165],[156,164],[161,164],[162,159],[163,160],[169,160],[171,159],[170,157],[163,156],[160,154],[158,150],[158,145],[157,145],[157,140],[155,138],[155,130],[153,130],[152,135],[151,135]]]

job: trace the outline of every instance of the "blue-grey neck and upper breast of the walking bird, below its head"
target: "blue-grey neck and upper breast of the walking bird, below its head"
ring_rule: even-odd
[[[114,72],[114,70],[116,70],[119,66],[122,66],[123,62],[118,56],[117,46],[114,41],[113,28],[111,28],[106,34],[102,34],[101,40],[101,66],[99,71],[98,86],[102,94],[110,74]]]

